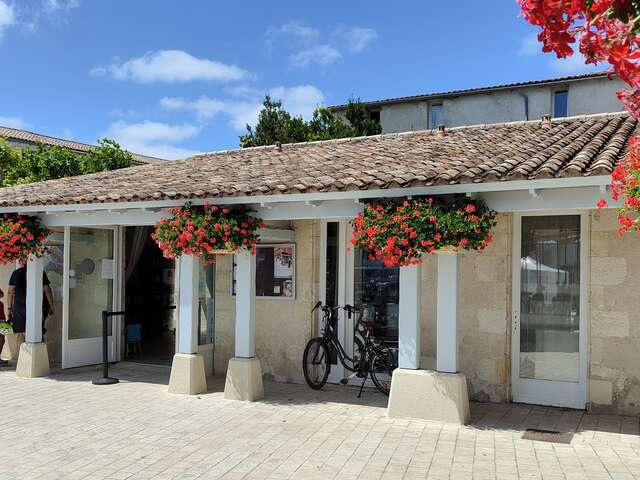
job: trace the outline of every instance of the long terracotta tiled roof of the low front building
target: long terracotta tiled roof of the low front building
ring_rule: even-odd
[[[608,175],[635,130],[619,113],[246,148],[5,188],[0,206]]]

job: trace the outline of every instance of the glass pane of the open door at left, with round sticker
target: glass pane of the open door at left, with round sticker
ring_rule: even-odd
[[[69,244],[69,339],[102,335],[113,308],[113,230],[72,228]]]

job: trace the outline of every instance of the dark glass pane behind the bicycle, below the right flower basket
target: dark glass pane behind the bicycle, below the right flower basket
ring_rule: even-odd
[[[354,282],[354,303],[362,309],[362,320],[375,324],[377,338],[397,343],[400,269],[387,268],[358,249]]]

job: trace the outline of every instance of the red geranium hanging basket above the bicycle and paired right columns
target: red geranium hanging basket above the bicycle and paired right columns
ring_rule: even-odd
[[[492,241],[495,216],[481,200],[368,205],[352,222],[351,243],[387,267],[415,265],[425,253],[483,250]]]

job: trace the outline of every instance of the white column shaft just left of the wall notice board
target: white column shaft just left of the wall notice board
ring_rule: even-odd
[[[236,352],[237,358],[253,358],[255,350],[256,256],[236,254]]]

